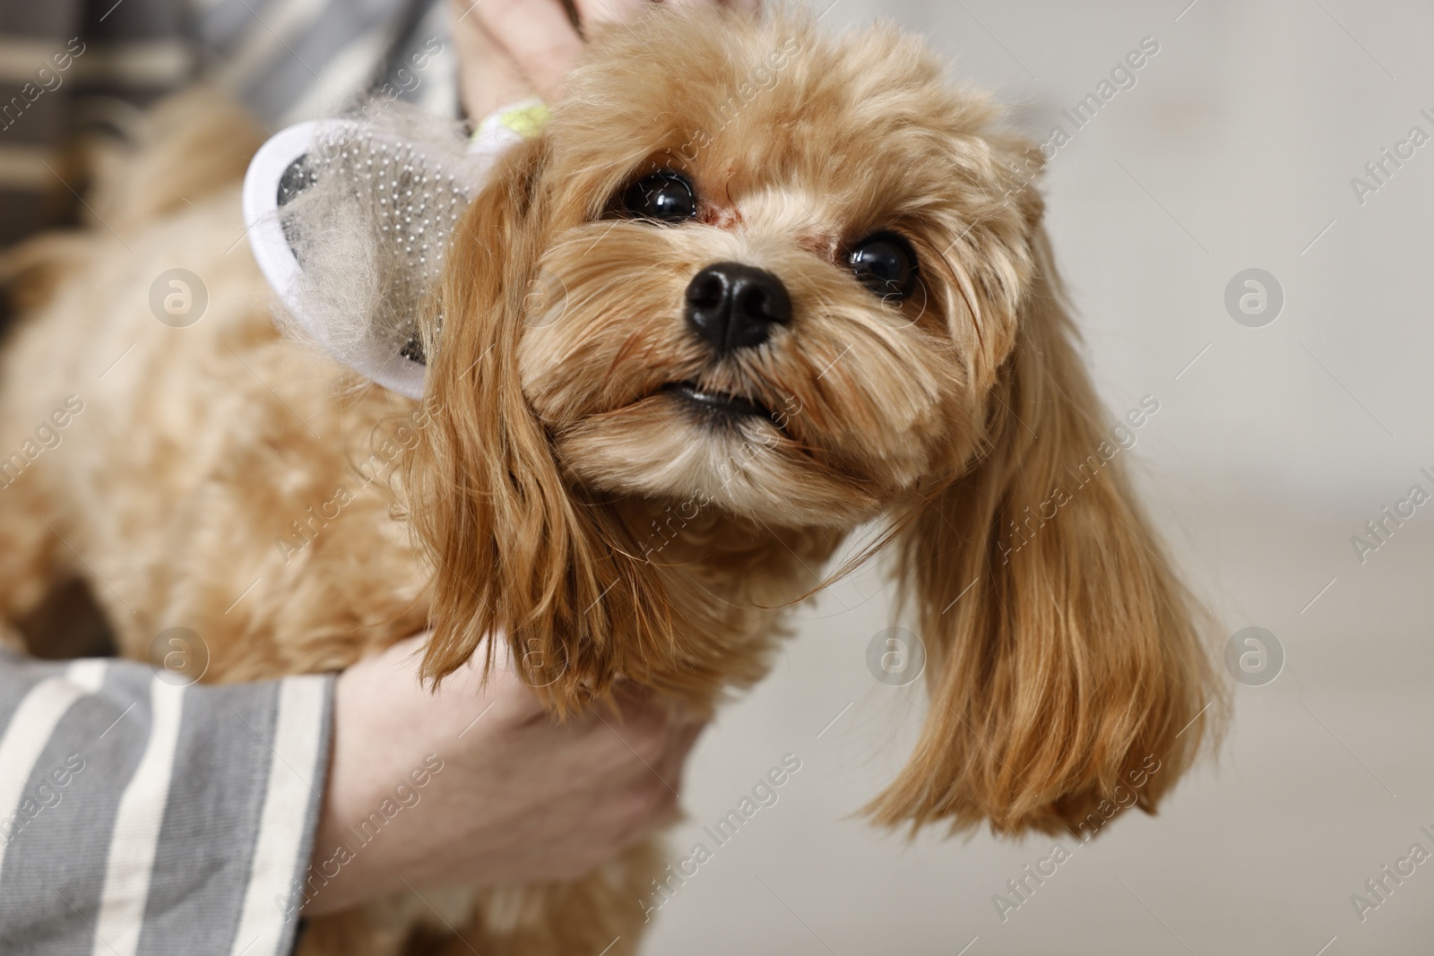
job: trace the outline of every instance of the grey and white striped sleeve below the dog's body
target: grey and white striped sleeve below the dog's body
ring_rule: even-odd
[[[174,679],[0,649],[0,953],[293,949],[333,679]]]

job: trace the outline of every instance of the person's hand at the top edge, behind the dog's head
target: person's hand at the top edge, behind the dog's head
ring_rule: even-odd
[[[756,13],[760,0],[668,0],[711,3]],[[582,32],[631,20],[652,0],[574,0]],[[535,93],[562,96],[582,54],[582,37],[561,0],[449,0],[457,50],[459,99],[473,119]]]

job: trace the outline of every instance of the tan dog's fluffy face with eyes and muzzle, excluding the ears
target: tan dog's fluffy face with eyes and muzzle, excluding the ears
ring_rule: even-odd
[[[545,133],[523,393],[604,492],[870,517],[979,439],[1027,156],[895,32],[654,20],[602,39]]]

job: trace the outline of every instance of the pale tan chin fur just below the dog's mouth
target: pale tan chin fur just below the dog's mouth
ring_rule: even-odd
[[[787,527],[850,527],[892,489],[819,464],[771,421],[638,406],[588,419],[556,443],[565,470],[601,492],[714,507]]]

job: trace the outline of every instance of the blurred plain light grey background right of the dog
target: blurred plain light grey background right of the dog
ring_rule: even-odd
[[[1362,922],[1351,903],[1411,844],[1434,851],[1434,507],[1362,563],[1351,543],[1411,484],[1434,490],[1434,143],[1362,204],[1351,186],[1412,126],[1434,136],[1434,7],[837,0],[825,21],[879,16],[1041,140],[1159,43],[1050,162],[1048,224],[1111,420],[1160,401],[1127,462],[1179,573],[1226,635],[1266,628],[1286,662],[1265,687],[1232,681],[1223,750],[1159,817],[1063,840],[1073,859],[1002,922],[992,896],[1053,840],[908,844],[853,818],[923,702],[868,672],[891,591],[879,569],[849,579],[800,609],[774,674],[700,744],[684,851],[783,754],[802,770],[655,914],[647,952],[1434,952],[1434,861]],[[1285,297],[1258,328],[1225,307],[1249,268]]]

